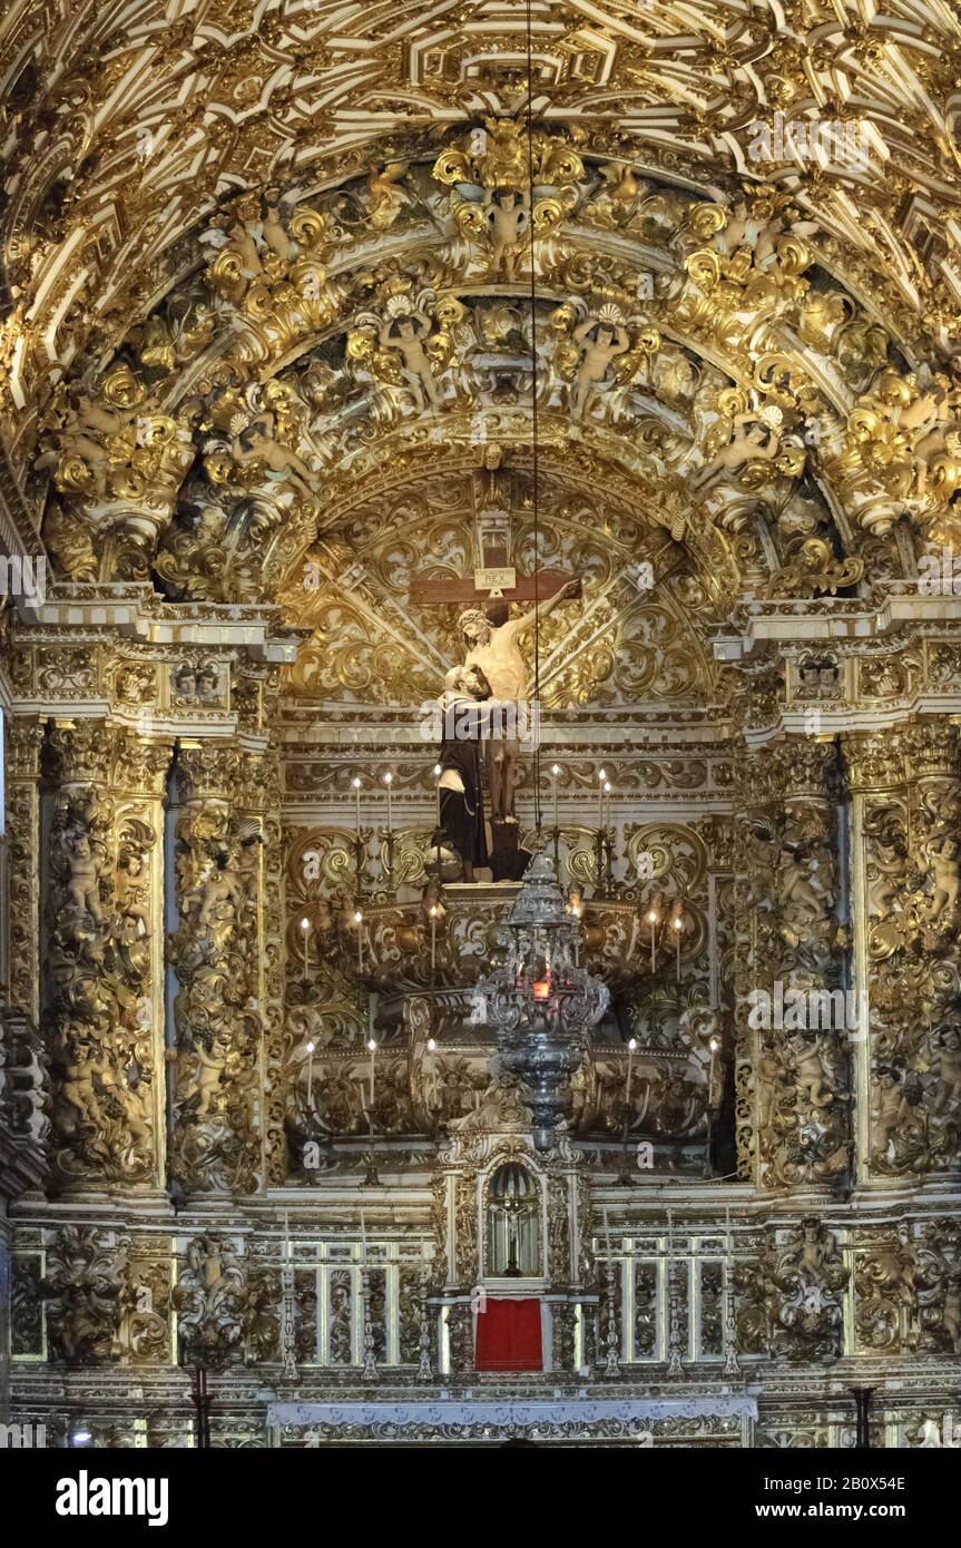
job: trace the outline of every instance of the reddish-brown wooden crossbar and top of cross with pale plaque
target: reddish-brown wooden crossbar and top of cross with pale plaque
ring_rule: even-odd
[[[452,577],[436,563],[410,577],[410,601],[421,607],[483,608],[492,624],[503,622],[511,602],[548,602],[576,576],[539,570],[518,576],[511,563],[511,475],[489,467],[474,477],[474,576]],[[577,596],[580,582],[577,580]]]

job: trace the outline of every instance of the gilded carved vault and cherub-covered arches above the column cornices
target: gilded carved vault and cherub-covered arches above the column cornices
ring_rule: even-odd
[[[319,642],[317,537],[376,579],[438,477],[466,497],[491,444],[529,477],[532,353],[545,489],[608,512],[599,573],[636,523],[633,562],[661,553],[707,628],[758,598],[867,604],[952,537],[952,8],[529,14],[534,316],[526,237],[497,237],[526,189],[525,6],[6,12],[3,494],[63,582],[283,596]],[[789,136],[758,161],[786,119],[865,156]],[[327,670],[308,652],[300,689]]]

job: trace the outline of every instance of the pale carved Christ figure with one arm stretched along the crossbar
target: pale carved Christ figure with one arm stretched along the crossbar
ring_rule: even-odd
[[[577,582],[568,580],[548,602],[539,602],[520,618],[506,624],[492,624],[480,608],[467,608],[458,618],[464,638],[466,667],[480,667],[495,700],[518,704],[528,697],[528,669],[518,650],[518,639],[534,622],[546,618],[559,602],[577,596]],[[491,794],[491,820],[517,822],[514,816],[514,791],[517,786],[518,743],[491,737],[487,740],[487,791]]]

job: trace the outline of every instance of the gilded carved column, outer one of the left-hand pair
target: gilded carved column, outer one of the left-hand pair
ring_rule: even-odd
[[[54,726],[50,757],[53,1169],[63,1189],[156,1186],[162,830],[155,765],[162,752],[141,755],[105,721],[84,720]],[[145,779],[153,782],[147,791]]]

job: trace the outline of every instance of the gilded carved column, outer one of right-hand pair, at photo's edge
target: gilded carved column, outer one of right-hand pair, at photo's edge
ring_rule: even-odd
[[[930,720],[845,738],[854,955],[868,1000],[859,1053],[862,1180],[947,1172],[961,1149],[958,731]]]

